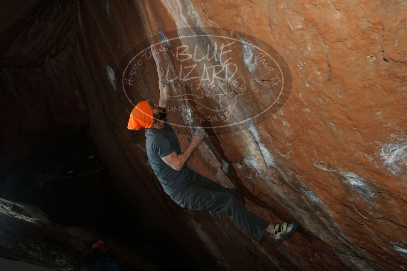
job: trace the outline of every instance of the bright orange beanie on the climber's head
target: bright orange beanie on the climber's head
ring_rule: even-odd
[[[153,111],[147,100],[140,101],[131,111],[127,129],[139,130],[141,127],[150,128],[153,125]]]

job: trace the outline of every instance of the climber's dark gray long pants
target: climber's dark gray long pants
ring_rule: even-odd
[[[190,183],[169,194],[181,207],[191,210],[214,211],[229,218],[260,241],[269,222],[250,212],[235,197],[235,191],[195,173]]]

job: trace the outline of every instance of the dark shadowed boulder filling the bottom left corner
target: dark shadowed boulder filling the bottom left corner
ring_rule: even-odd
[[[64,227],[48,220],[41,209],[0,198],[2,258],[59,270],[95,270],[88,253],[100,239],[118,254],[126,270],[163,270],[156,261],[159,249],[129,245],[110,234],[85,227]]]

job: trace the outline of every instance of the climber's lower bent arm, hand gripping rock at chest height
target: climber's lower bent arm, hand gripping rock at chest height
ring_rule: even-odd
[[[204,129],[197,130],[192,137],[191,144],[189,144],[185,152],[178,155],[176,151],[173,151],[161,159],[174,170],[181,171],[188,162],[189,158],[191,158],[192,152],[196,147],[198,147],[199,143],[203,140],[203,138],[205,138],[206,135],[207,133]]]

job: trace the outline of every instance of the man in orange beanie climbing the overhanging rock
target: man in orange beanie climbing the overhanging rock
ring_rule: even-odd
[[[187,161],[192,152],[207,134],[204,129],[195,131],[188,148],[181,151],[176,133],[167,123],[169,86],[163,75],[161,58],[156,49],[153,48],[151,52],[159,78],[159,105],[150,100],[140,101],[130,114],[127,128],[146,128],[147,155],[164,192],[183,208],[228,214],[232,221],[252,234],[257,241],[260,241],[265,231],[275,239],[294,233],[297,228],[295,222],[266,222],[237,199],[239,195],[236,190],[225,188],[188,167]]]

